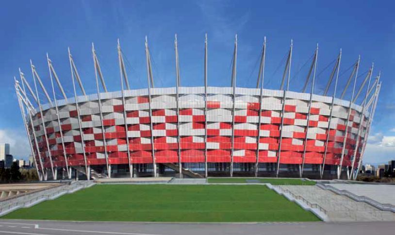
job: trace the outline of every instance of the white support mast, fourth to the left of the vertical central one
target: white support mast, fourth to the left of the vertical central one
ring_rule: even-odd
[[[98,93],[98,101],[99,101],[99,113],[100,113],[100,126],[101,126],[101,134],[102,134],[102,138],[103,138],[103,147],[104,147],[104,157],[106,158],[106,167],[107,167],[107,178],[111,178],[110,174],[108,172],[110,172],[109,167],[108,167],[108,152],[107,152],[107,141],[106,141],[106,136],[104,134],[104,125],[103,125],[103,107],[102,107],[102,103],[101,103],[101,96],[100,96],[100,89],[99,89],[99,81],[98,81],[98,70],[100,71],[101,74],[101,70],[99,69],[99,63],[98,63],[98,59],[96,57],[96,51],[95,51],[95,46],[92,43],[92,56],[93,56],[93,63],[94,63],[94,67],[95,67],[95,78],[96,78],[96,91]],[[102,77],[102,75],[100,75],[101,78],[101,82],[103,84],[103,88],[105,91],[107,91],[107,88],[104,85],[104,79]],[[128,131],[126,130],[126,136],[128,135]]]

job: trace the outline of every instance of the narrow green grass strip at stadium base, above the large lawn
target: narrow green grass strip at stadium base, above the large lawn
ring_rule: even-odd
[[[281,178],[209,178],[208,183],[252,183],[248,180],[258,180],[259,183],[270,183],[272,185],[315,185],[314,181]]]

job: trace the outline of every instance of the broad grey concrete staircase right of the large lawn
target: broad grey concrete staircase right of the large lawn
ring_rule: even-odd
[[[365,202],[354,201],[346,196],[335,194],[318,186],[279,186],[294,195],[303,197],[312,204],[325,209],[330,221],[395,221],[395,214],[381,211]]]

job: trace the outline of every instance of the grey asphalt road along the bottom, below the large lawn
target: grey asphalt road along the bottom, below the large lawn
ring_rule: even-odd
[[[0,235],[390,235],[394,222],[128,223],[0,219]]]

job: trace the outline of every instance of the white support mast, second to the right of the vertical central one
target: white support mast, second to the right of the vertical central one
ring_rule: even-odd
[[[263,40],[263,50],[261,57],[261,64],[259,66],[257,88],[259,88],[259,82],[261,81],[261,93],[259,95],[259,111],[258,111],[258,127],[257,127],[257,151],[256,151],[256,162],[255,162],[255,177],[258,177],[259,170],[259,141],[261,138],[261,123],[262,123],[262,100],[263,100],[263,82],[264,82],[264,62],[266,55],[266,37]]]

